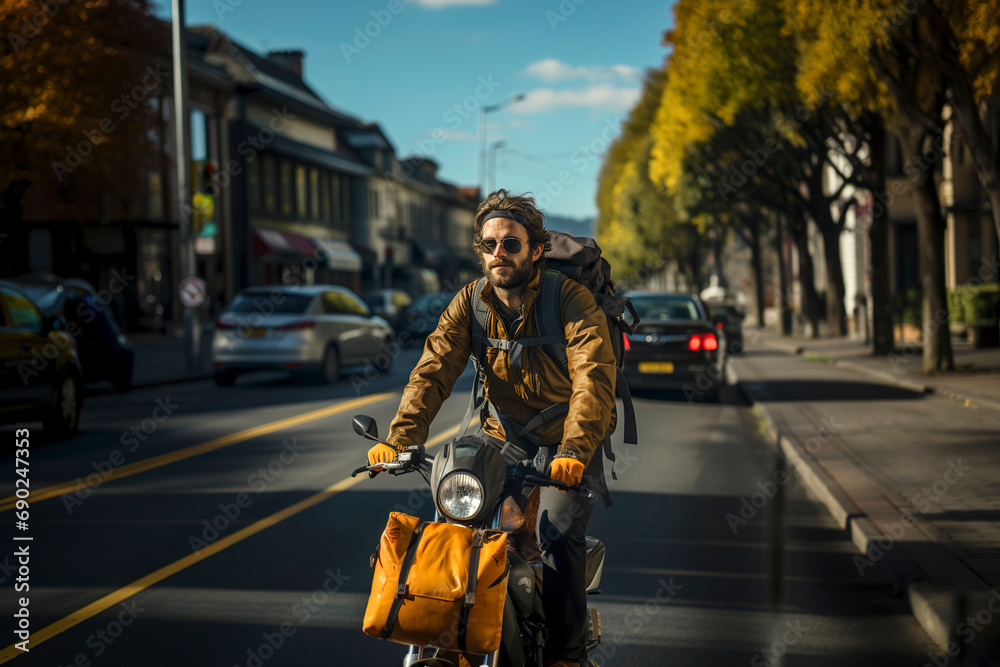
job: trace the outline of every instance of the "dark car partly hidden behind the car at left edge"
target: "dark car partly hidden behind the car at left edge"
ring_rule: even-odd
[[[135,350],[93,285],[51,274],[19,276],[11,282],[24,290],[43,314],[66,322],[66,331],[76,338],[85,382],[110,380],[115,391],[132,389]]]

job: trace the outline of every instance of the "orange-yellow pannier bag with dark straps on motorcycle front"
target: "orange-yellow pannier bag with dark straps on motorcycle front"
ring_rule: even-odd
[[[366,634],[479,655],[499,648],[506,533],[392,512],[372,566]]]

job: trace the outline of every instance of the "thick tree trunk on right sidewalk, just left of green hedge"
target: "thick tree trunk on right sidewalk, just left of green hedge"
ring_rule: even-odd
[[[904,164],[918,164],[927,133],[901,127],[897,130],[903,149]],[[944,232],[947,226],[941,213],[937,184],[932,168],[920,169],[911,176],[917,214],[917,241],[920,246],[920,283],[923,287],[924,373],[955,370],[948,328],[948,293],[945,285]]]

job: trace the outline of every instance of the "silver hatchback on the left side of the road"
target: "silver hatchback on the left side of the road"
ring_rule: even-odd
[[[215,322],[215,382],[241,373],[288,370],[336,382],[342,366],[389,370],[392,327],[354,292],[336,285],[275,285],[242,290]],[[388,362],[385,361],[388,359]]]

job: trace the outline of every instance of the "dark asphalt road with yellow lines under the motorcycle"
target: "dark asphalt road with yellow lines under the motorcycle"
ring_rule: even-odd
[[[401,664],[404,649],[360,630],[368,557],[390,510],[432,508],[415,475],[344,480],[367,449],[351,416],[371,415],[384,433],[416,355],[333,386],[272,374],[90,395],[81,434],[62,442],[28,425],[42,495],[26,531],[11,509],[13,446],[0,457],[0,662]],[[460,421],[469,381],[432,440]],[[773,484],[773,452],[734,388],[718,405],[643,394],[636,408],[640,445],[616,445],[615,503],[589,530],[608,550],[591,598],[600,664],[929,662],[935,646],[877,574],[858,574],[825,510],[794,480]],[[15,593],[25,544],[30,591]],[[36,634],[18,654],[25,595]]]

